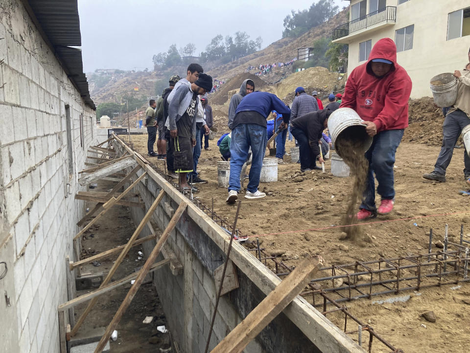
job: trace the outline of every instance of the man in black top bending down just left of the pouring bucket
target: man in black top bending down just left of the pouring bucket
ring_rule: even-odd
[[[290,122],[290,131],[299,142],[301,172],[322,169],[316,165],[317,159],[320,163],[325,163],[325,160],[320,156],[318,145],[321,144],[322,133],[327,127],[331,113],[332,111],[329,109],[318,110],[304,114]]]

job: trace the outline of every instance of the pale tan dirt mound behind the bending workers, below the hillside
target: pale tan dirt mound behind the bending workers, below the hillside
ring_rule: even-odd
[[[324,67],[314,67],[287,76],[275,87],[274,93],[285,103],[290,103],[294,100],[295,89],[301,86],[308,94],[318,91],[319,98],[323,100],[328,98],[332,90],[340,91],[344,88],[345,83],[346,77],[343,75]]]

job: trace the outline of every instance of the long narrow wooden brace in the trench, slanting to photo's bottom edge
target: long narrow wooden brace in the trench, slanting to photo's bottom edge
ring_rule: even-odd
[[[161,194],[162,193],[164,193],[164,191],[162,191]],[[162,236],[158,240],[152,252],[149,254],[147,261],[145,261],[145,264],[141,268],[141,271],[139,271],[139,276],[136,278],[136,281],[134,282],[132,287],[129,289],[129,292],[127,293],[126,297],[124,298],[121,305],[119,306],[119,309],[116,312],[116,315],[113,317],[113,320],[111,320],[111,323],[106,328],[106,331],[104,332],[104,335],[101,337],[100,341],[98,342],[98,345],[96,346],[96,349],[94,350],[94,353],[101,353],[103,351],[104,346],[106,345],[109,338],[111,337],[111,333],[118,326],[118,323],[122,318],[122,315],[124,315],[124,312],[126,311],[128,306],[131,304],[132,300],[134,299],[134,296],[139,290],[145,276],[147,276],[148,274],[148,270],[150,269],[152,264],[155,262],[158,254],[160,253],[160,250],[162,249],[163,244],[166,242],[166,239],[168,239],[168,237],[170,236],[171,231],[173,230],[173,228],[176,226],[176,223],[181,218],[187,205],[188,205],[187,202],[181,202],[180,205],[178,206],[178,209],[176,210],[174,216],[171,218],[170,222],[168,222],[168,225],[163,231]],[[145,218],[142,220],[142,222],[144,220]],[[147,221],[148,220],[145,220],[145,223],[147,223]]]

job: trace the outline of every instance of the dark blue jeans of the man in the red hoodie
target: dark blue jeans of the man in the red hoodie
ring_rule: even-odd
[[[393,165],[395,163],[395,152],[400,145],[403,131],[403,129],[386,130],[374,136],[372,145],[365,154],[366,159],[369,161],[369,173],[360,208],[372,212],[376,211],[374,173],[378,182],[377,193],[382,200],[393,200],[395,198]]]

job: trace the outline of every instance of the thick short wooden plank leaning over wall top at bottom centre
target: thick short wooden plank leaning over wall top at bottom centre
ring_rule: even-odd
[[[302,292],[322,265],[320,256],[302,261],[211,353],[241,353]]]

